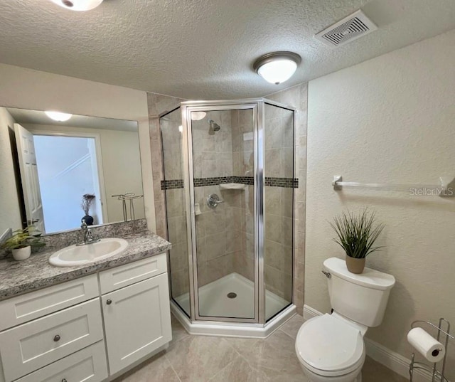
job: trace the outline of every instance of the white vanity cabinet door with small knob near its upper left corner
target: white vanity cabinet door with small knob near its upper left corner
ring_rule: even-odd
[[[168,275],[102,296],[111,375],[171,341]]]

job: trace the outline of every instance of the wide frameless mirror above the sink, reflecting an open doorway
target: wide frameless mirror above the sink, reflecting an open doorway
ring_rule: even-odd
[[[0,107],[0,235],[145,217],[137,122],[69,116]]]

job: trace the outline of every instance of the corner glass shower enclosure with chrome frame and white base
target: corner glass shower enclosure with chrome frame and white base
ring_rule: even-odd
[[[294,119],[265,99],[160,116],[171,306],[190,332],[267,336],[295,312]]]

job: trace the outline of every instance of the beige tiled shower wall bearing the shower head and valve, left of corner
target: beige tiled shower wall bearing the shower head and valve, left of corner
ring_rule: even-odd
[[[210,129],[209,120],[220,126]],[[200,121],[192,122],[193,176],[195,179],[232,176],[232,127],[229,110],[207,112]],[[224,196],[220,186],[195,187],[195,203],[201,214],[196,216],[196,247],[198,251],[198,285],[202,287],[234,272],[234,256],[238,248],[229,200],[216,208],[207,206],[207,198],[216,193]]]

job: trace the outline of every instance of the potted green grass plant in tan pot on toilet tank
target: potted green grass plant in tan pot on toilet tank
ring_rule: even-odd
[[[346,252],[346,266],[349,272],[362,273],[365,258],[382,247],[373,247],[376,239],[384,229],[384,224],[375,226],[375,213],[363,212],[354,215],[343,212],[330,223],[338,238],[333,240]]]

